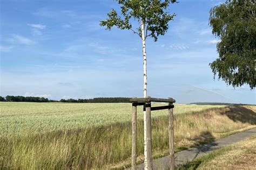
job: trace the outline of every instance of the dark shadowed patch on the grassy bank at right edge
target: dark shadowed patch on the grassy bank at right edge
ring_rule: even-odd
[[[230,106],[230,110],[221,114],[226,115],[233,121],[256,125],[256,113],[243,106]]]

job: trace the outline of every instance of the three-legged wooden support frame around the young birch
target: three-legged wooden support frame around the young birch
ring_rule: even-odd
[[[149,169],[153,168],[152,160],[152,142],[151,142],[151,111],[169,110],[169,154],[170,154],[170,169],[174,170],[174,131],[173,131],[173,108],[176,101],[172,98],[132,98],[132,169],[136,169],[136,142],[137,142],[137,106],[143,105],[143,110],[146,111],[146,142],[147,142],[147,165]],[[151,107],[151,102],[169,103],[167,106]]]

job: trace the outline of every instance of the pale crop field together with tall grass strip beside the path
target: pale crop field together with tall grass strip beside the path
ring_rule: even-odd
[[[131,104],[0,103],[0,167],[122,168],[131,154]],[[138,162],[143,112],[138,108]],[[255,106],[175,105],[176,151],[255,127]],[[168,153],[167,111],[152,112],[154,158]]]

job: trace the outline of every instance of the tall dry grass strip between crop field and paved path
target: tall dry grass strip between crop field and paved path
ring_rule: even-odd
[[[174,115],[176,152],[255,127],[251,108],[235,106]],[[153,157],[168,153],[167,117],[152,119]],[[138,122],[138,159],[143,161],[143,120]],[[131,123],[0,137],[0,167],[90,169],[130,166]]]

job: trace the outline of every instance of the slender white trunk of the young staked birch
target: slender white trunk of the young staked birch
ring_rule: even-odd
[[[147,59],[146,59],[146,37],[145,37],[145,21],[142,19],[142,51],[143,51],[143,97],[147,97]],[[145,169],[148,169],[147,165],[147,135],[146,135],[146,111],[143,112],[144,120],[144,164]]]

